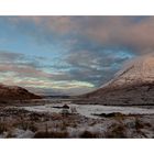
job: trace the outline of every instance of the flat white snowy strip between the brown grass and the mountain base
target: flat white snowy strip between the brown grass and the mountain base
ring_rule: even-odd
[[[98,105],[68,105],[70,110],[76,108],[77,112],[81,116],[88,118],[98,118],[92,116],[94,113],[112,113],[121,112],[124,114],[154,114],[154,109],[143,109],[140,107],[112,107],[112,106],[98,106]],[[48,112],[48,113],[59,113],[63,109],[56,109],[53,107],[63,107],[62,103],[58,105],[45,105],[45,106],[33,106],[33,107],[20,107],[29,111],[35,112]]]

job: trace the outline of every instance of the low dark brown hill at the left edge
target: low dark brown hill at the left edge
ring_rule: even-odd
[[[0,84],[0,100],[26,100],[40,98],[40,96],[31,94],[24,88]]]

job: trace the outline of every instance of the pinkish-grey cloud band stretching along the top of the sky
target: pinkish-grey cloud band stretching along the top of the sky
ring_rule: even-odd
[[[138,54],[154,50],[154,16],[14,16],[9,21],[20,26],[33,23],[47,42],[57,35],[66,42],[82,37],[106,46],[127,46]]]

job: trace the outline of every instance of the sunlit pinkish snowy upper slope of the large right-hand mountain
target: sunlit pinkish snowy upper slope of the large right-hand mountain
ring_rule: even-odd
[[[107,86],[128,86],[132,84],[154,81],[154,54],[140,56],[124,64],[112,80],[102,85]],[[102,88],[101,87],[101,88]]]

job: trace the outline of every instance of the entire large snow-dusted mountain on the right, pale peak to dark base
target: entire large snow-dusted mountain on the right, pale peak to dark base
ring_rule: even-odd
[[[127,63],[113,79],[81,98],[85,103],[154,105],[154,54]]]

